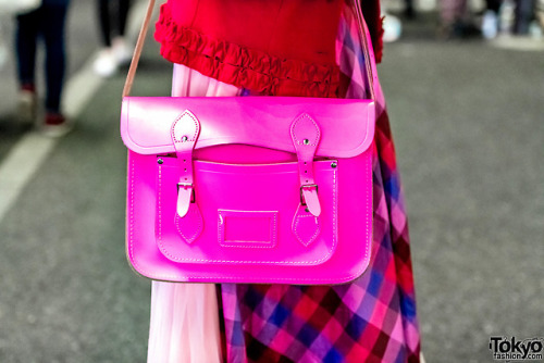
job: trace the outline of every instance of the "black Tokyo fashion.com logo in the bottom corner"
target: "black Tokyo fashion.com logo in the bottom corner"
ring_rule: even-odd
[[[490,350],[494,360],[502,361],[536,361],[544,354],[544,339],[530,338],[519,340],[516,337],[491,337]]]

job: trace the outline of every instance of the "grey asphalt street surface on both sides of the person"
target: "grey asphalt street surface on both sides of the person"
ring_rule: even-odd
[[[73,1],[69,78],[98,47],[92,4]],[[432,16],[405,24],[379,66],[423,352],[428,362],[493,362],[492,336],[544,338],[544,52],[440,41]],[[12,72],[0,72],[0,171],[11,173],[0,178],[36,158],[2,168],[32,135],[13,117]],[[0,216],[2,363],[146,361],[150,283],[124,252],[125,72],[94,80],[74,130],[52,143]],[[170,77],[148,41],[134,95],[169,95]]]

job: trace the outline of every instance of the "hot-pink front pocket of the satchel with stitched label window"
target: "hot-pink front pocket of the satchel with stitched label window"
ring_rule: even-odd
[[[313,163],[319,217],[306,211],[297,163],[194,161],[189,212],[176,212],[180,164],[158,157],[156,235],[171,261],[318,265],[337,245],[337,163]]]

